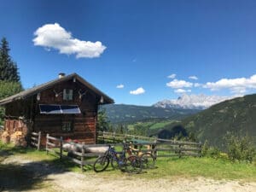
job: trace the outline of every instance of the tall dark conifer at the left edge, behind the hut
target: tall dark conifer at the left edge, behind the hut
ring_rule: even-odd
[[[9,55],[9,43],[2,38],[0,46],[0,80],[20,82],[18,67]]]

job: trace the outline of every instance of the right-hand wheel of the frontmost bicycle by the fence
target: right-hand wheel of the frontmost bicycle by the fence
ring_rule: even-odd
[[[136,155],[131,155],[127,158],[125,163],[125,171],[137,174],[142,172],[142,162]]]

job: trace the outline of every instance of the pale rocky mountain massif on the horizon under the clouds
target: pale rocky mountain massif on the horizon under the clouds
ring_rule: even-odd
[[[183,109],[206,109],[218,102],[224,102],[233,98],[232,96],[206,96],[187,95],[179,96],[177,99],[163,100],[155,103],[156,108],[183,108]]]

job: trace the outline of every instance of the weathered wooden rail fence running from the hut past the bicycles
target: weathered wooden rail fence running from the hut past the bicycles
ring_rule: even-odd
[[[143,138],[145,139],[146,137]],[[70,145],[69,148],[64,148],[64,144]],[[129,142],[128,139],[126,139],[126,144],[128,144],[130,148],[137,148],[137,154],[152,153],[156,158],[172,156],[177,156],[179,158],[182,156],[201,156],[201,143],[181,142],[166,139],[154,139],[154,142],[143,141],[140,143],[134,143]],[[108,143],[84,144],[65,142],[62,140],[62,137],[50,137],[49,134],[46,136],[47,154],[49,152],[58,154],[60,155],[60,159],[71,160],[78,164],[82,170],[84,170],[85,165],[92,165],[94,163],[95,160],[92,161],[92,157],[97,157],[105,153],[104,151],[91,152],[90,150],[88,151],[88,148],[108,147],[108,145]],[[123,143],[111,143],[111,145],[123,146]],[[63,151],[66,151],[67,153],[63,153]]]

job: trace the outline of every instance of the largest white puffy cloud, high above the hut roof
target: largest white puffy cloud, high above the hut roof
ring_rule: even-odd
[[[41,26],[34,35],[34,45],[43,46],[47,50],[57,49],[61,54],[74,54],[77,58],[99,57],[106,49],[100,41],[90,42],[73,38],[72,33],[67,32],[58,23]]]

